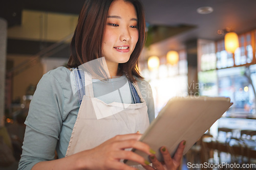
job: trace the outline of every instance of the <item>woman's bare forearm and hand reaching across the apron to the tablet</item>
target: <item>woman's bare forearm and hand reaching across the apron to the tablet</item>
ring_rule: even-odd
[[[138,141],[141,134],[117,135],[98,147],[79,152],[77,154],[35,164],[35,169],[135,169],[122,162],[121,159],[129,159],[139,164],[146,165],[143,157],[125,151],[126,148],[135,148],[151,155],[150,147]]]

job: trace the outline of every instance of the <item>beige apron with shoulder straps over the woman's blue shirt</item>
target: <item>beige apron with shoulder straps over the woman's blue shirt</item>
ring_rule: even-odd
[[[137,83],[134,84],[142,103],[106,104],[94,98],[91,75],[84,72],[84,78],[86,95],[78,111],[66,156],[95,148],[116,135],[145,132],[150,122]]]

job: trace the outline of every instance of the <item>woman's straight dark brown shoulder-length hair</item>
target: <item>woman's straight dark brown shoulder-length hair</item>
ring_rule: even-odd
[[[67,67],[73,68],[102,57],[102,41],[106,17],[111,3],[115,0],[86,0],[80,12],[77,27],[71,41],[71,56]],[[138,70],[138,58],[145,43],[145,14],[139,0],[124,0],[134,5],[138,17],[139,39],[129,61],[119,63],[118,74],[125,74],[135,82],[142,78]]]

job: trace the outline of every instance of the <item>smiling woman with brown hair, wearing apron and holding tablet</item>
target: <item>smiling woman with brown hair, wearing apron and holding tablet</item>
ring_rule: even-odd
[[[144,132],[154,119],[152,91],[137,69],[144,39],[144,11],[139,1],[84,3],[71,42],[71,69],[51,70],[37,85],[25,123],[19,169],[138,168],[121,159],[146,169],[179,166],[184,141],[174,159],[161,148],[164,164],[147,144],[138,141],[141,134],[136,132]],[[94,69],[95,62],[100,70]],[[150,155],[154,168],[125,150],[129,148]]]

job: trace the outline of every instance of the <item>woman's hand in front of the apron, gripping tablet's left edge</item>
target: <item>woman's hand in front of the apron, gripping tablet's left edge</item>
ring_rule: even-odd
[[[135,169],[120,162],[121,159],[132,160],[145,166],[143,157],[124,150],[126,148],[135,148],[152,155],[150,147],[138,141],[140,137],[141,134],[138,133],[117,135],[96,148],[75,154],[79,159],[77,162],[81,169]]]

